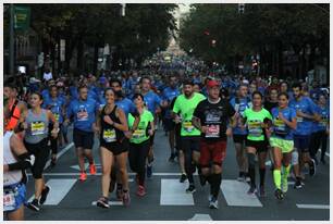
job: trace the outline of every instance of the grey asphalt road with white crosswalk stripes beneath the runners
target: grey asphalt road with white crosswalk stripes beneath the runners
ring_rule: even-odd
[[[94,146],[96,163],[99,162],[98,142]],[[249,197],[246,195],[248,185],[236,181],[237,167],[233,142],[227,145],[227,155],[223,164],[223,181],[219,196],[219,210],[208,208],[209,186],[201,187],[195,177],[197,191],[186,194],[188,183],[180,184],[177,163],[168,162],[170,154],[164,132],[156,134],[153,176],[147,181],[147,195],[139,198],[135,195],[134,175],[130,177],[132,203],[125,208],[116,201],[115,194],[110,196],[110,209],[94,206],[101,195],[100,166],[97,175],[88,176],[81,183],[77,171],[77,159],[72,145],[60,150],[57,166],[47,167],[46,182],[51,185],[51,192],[40,212],[25,209],[28,221],[329,221],[330,220],[330,165],[319,164],[313,177],[306,175],[303,189],[293,188],[291,178],[289,190],[283,201],[273,195],[272,175],[267,172],[267,197]],[[330,158],[326,157],[326,161]],[[131,172],[131,171],[130,171]],[[259,175],[257,175],[259,178]],[[258,179],[259,181],[259,179]],[[29,176],[27,197],[34,194],[34,182]]]

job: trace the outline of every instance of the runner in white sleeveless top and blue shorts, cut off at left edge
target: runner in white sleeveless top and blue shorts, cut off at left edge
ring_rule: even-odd
[[[23,221],[23,204],[26,201],[25,170],[32,166],[30,155],[22,139],[12,130],[5,129],[11,121],[8,102],[4,102],[3,109],[3,215],[9,221]]]

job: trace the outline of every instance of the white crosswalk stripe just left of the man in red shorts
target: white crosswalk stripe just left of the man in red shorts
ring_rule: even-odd
[[[161,179],[161,206],[194,206],[192,194],[186,194],[186,184],[178,179]]]

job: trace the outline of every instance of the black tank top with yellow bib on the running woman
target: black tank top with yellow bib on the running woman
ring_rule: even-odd
[[[114,105],[113,110],[111,111],[110,114],[106,114],[106,105],[102,109],[101,112],[101,134],[100,134],[100,140],[107,142],[107,144],[111,144],[111,142],[115,142],[115,141],[122,141],[125,137],[124,133],[120,129],[118,129],[116,127],[114,127],[111,124],[108,124],[104,122],[103,117],[104,115],[110,116],[110,119],[114,122],[114,123],[119,123],[121,124],[119,117],[115,115],[115,110],[116,110],[116,105]]]

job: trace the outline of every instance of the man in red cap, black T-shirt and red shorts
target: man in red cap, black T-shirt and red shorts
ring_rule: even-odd
[[[232,133],[231,126],[227,127],[227,120],[232,119],[232,124],[235,122],[235,110],[229,101],[219,97],[218,82],[208,82],[207,90],[208,98],[199,102],[192,121],[194,126],[201,130],[200,167],[202,178],[210,184],[209,207],[218,209],[222,163],[226,155],[226,135]]]

